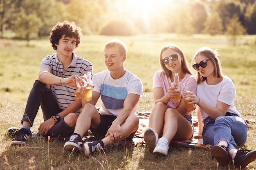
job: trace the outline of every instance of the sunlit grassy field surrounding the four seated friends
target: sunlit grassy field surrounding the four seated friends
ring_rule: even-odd
[[[75,53],[92,62],[94,73],[105,70],[103,46],[113,38],[127,44],[125,67],[143,82],[144,97],[139,101],[139,112],[150,112],[154,106],[152,84],[154,73],[160,69],[159,53],[164,44],[173,42],[184,51],[189,62],[202,46],[218,49],[223,72],[236,86],[237,110],[244,119],[256,119],[256,36],[245,35],[238,46],[232,46],[224,35],[86,35]],[[150,154],[144,146],[113,147],[85,158],[82,153],[65,152],[63,142],[48,142],[47,139],[33,139],[25,147],[9,146],[11,139],[5,135],[5,130],[12,126],[20,128],[20,119],[29,91],[38,77],[40,62],[54,52],[47,38],[33,40],[30,44],[27,47],[25,41],[0,40],[0,170],[234,170],[232,164],[228,167],[218,166],[216,159],[211,159],[211,152],[202,149],[173,149],[166,157],[161,157]],[[191,71],[195,73],[192,67]],[[40,110],[31,130],[36,130],[42,121]],[[255,136],[256,124],[249,124],[244,147],[256,149]],[[254,170],[255,167],[254,161],[246,169]]]

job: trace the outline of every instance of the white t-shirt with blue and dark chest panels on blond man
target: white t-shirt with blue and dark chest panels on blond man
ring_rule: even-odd
[[[109,70],[94,75],[93,91],[101,93],[101,115],[117,116],[124,108],[124,100],[130,93],[143,95],[141,80],[130,71],[126,70],[123,77],[113,79]],[[131,115],[136,115],[138,104],[133,108]]]

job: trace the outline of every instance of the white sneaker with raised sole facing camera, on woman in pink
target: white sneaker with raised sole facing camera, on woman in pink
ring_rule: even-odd
[[[147,128],[144,132],[144,141],[148,146],[149,152],[153,152],[158,142],[158,135],[152,128]]]

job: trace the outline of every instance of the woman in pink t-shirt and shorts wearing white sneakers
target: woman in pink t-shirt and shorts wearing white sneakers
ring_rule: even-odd
[[[155,106],[149,117],[149,128],[144,132],[144,140],[150,152],[167,155],[171,140],[193,137],[192,111],[186,109],[184,99],[180,102],[172,100],[181,93],[176,90],[177,87],[172,87],[174,75],[179,73],[180,82],[193,93],[196,79],[191,75],[184,53],[175,44],[163,47],[160,64],[162,70],[157,71],[153,79]]]

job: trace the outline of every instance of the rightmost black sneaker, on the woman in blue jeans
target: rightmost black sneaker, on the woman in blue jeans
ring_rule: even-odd
[[[240,148],[236,152],[234,159],[235,168],[245,168],[249,163],[256,159],[256,149],[247,150],[245,148]]]

